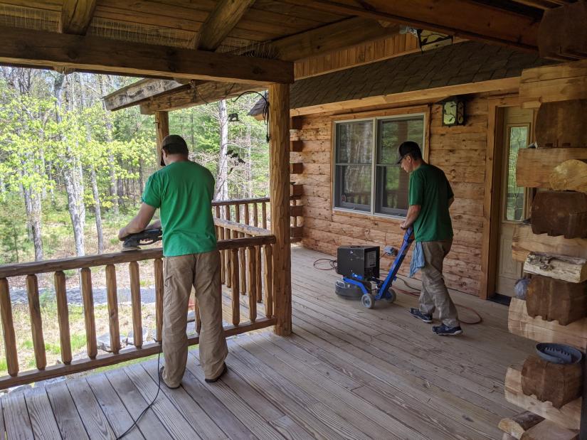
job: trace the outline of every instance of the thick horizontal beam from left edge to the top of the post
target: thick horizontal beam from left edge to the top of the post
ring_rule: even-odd
[[[179,77],[269,85],[291,83],[293,65],[204,50],[109,40],[0,27],[0,63],[53,65],[65,68],[127,73],[136,76]]]

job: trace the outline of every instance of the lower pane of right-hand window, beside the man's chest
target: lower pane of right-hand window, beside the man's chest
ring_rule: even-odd
[[[376,210],[390,215],[406,215],[408,210],[408,173],[399,166],[377,166]]]

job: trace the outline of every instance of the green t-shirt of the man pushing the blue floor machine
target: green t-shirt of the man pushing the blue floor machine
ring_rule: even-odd
[[[420,215],[414,222],[417,242],[435,242],[453,238],[453,224],[448,213],[448,200],[453,189],[438,167],[423,163],[410,174],[409,205],[420,205]]]

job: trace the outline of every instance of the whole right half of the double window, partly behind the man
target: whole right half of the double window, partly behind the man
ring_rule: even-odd
[[[406,215],[408,211],[408,173],[397,164],[398,147],[403,141],[422,146],[424,118],[380,119],[377,124],[376,213]]]

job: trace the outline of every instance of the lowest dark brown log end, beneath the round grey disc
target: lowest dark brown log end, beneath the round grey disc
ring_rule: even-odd
[[[583,369],[581,363],[555,364],[529,355],[522,367],[522,391],[535,395],[541,402],[552,402],[555,408],[581,397]]]

